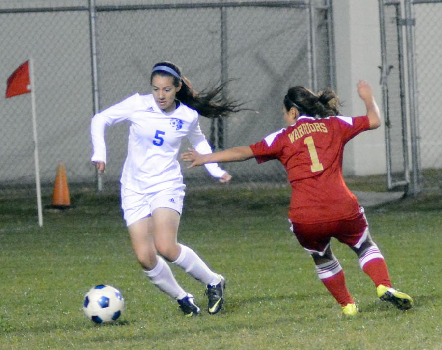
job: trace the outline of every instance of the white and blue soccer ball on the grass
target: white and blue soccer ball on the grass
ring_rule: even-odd
[[[120,291],[112,286],[95,286],[84,297],[83,311],[95,323],[116,321],[123,309],[123,296]]]

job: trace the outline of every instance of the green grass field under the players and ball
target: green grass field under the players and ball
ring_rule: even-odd
[[[414,297],[407,312],[378,300],[356,256],[332,242],[361,310],[351,319],[288,230],[287,188],[189,190],[179,239],[227,280],[222,312],[191,319],[143,276],[118,193],[71,199],[75,209],[45,212],[38,228],[32,196],[0,197],[0,349],[442,349],[440,196],[366,210],[393,285]],[[205,309],[204,286],[172,270]],[[126,301],[113,325],[83,315],[101,283]]]

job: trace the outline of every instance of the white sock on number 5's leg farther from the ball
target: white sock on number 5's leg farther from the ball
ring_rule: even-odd
[[[216,285],[221,282],[220,275],[213,272],[191,248],[183,244],[180,246],[181,253],[173,262],[175,265],[206,285]]]

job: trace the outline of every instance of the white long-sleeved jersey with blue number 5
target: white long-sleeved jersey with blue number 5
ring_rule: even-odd
[[[130,122],[127,158],[120,181],[132,191],[151,193],[185,187],[177,160],[185,136],[199,153],[212,153],[195,110],[180,103],[166,114],[152,94],[136,93],[92,118],[92,161],[106,163],[105,128],[120,121]],[[225,174],[216,163],[206,164],[206,168],[216,178]]]

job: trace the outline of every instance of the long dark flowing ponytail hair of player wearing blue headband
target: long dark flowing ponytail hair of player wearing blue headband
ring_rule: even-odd
[[[166,70],[155,70],[155,67],[166,66],[172,69],[172,72]],[[177,73],[176,76],[173,73]],[[181,89],[177,92],[176,98],[185,105],[197,111],[201,116],[207,118],[219,118],[226,117],[230,113],[239,112],[241,110],[247,110],[246,108],[240,108],[243,104],[238,101],[231,101],[225,98],[222,91],[226,83],[220,83],[209,90],[203,90],[201,92],[196,91],[189,79],[181,74],[181,69],[172,62],[159,62],[152,68],[150,75],[150,83],[155,75],[170,76],[173,78],[173,85],[178,87],[182,83]]]

